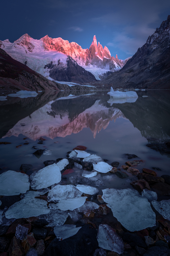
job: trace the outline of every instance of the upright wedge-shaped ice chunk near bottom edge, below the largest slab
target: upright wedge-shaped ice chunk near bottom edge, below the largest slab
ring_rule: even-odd
[[[117,252],[119,254],[124,251],[122,238],[120,238],[116,231],[107,224],[99,225],[97,241],[99,243],[99,247],[103,249]]]

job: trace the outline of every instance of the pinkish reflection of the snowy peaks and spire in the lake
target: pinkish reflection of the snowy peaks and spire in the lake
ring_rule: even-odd
[[[27,116],[20,120],[4,137],[23,134],[32,140],[36,140],[40,136],[53,139],[57,136],[65,137],[71,133],[78,133],[83,128],[90,128],[95,138],[97,132],[99,133],[102,128],[103,130],[106,129],[110,121],[113,119],[115,121],[119,117],[124,118],[119,109],[107,108],[99,102],[100,100],[96,100],[90,108],[80,113],[72,121],[69,120],[67,112],[62,113],[62,119],[60,113],[50,115],[49,113],[52,112],[51,104],[46,104],[33,112],[31,118]],[[21,126],[21,123],[25,123],[26,126]]]

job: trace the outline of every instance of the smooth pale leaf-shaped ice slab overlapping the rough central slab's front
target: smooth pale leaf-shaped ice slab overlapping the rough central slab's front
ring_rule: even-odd
[[[62,199],[57,203],[57,207],[62,211],[67,211],[67,210],[73,211],[74,209],[82,206],[86,201],[86,198],[87,198],[86,196],[79,196],[75,198]]]

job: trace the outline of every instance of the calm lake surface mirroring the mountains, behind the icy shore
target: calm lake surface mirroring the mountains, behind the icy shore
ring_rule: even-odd
[[[130,161],[146,161],[144,166],[137,167],[140,172],[143,167],[157,167],[161,169],[156,171],[157,176],[169,175],[169,156],[146,144],[170,141],[170,91],[148,90],[137,94],[138,99],[132,103],[110,102],[107,91],[48,91],[39,92],[37,97],[7,97],[7,101],[0,101],[0,142],[11,142],[0,145],[0,173],[18,171],[21,164],[32,164],[27,172],[30,175],[44,168],[44,161],[65,158],[68,151],[83,145],[87,152],[108,159],[108,164],[120,162],[118,168],[129,161],[125,156],[128,153],[139,157]],[[40,136],[46,139],[43,144],[37,144]],[[18,145],[22,146],[17,148]],[[50,150],[51,155],[37,158],[33,146]],[[114,175],[104,183],[109,188],[132,188],[130,182],[137,177],[128,175],[127,179]],[[67,184],[69,176],[73,174],[67,175]],[[103,187],[99,189],[101,192]]]

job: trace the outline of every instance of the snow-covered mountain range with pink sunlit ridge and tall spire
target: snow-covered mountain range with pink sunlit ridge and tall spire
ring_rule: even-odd
[[[119,60],[117,55],[114,58],[106,46],[103,48],[99,42],[97,45],[96,36],[94,36],[89,49],[82,49],[75,42],[69,43],[69,41],[63,40],[60,37],[50,38],[47,35],[37,40],[31,38],[28,34],[21,36],[14,43],[9,42],[8,39],[0,41],[0,47],[12,58],[43,76],[68,82],[90,82],[95,80],[95,78],[98,80],[103,79],[109,74],[107,73],[108,71],[114,72],[121,69],[130,58]],[[68,77],[69,71],[67,70],[67,62],[70,61],[72,61],[72,66],[75,66],[74,71],[79,68],[78,66],[81,66],[86,71],[91,72],[95,78],[93,76],[90,77],[89,73],[81,69],[81,73],[85,72],[88,79],[83,78],[81,81],[78,81],[77,78],[70,79]],[[78,66],[74,61],[77,62]],[[51,64],[50,67],[49,64]],[[51,71],[51,69],[53,70]],[[58,75],[59,69],[60,71],[63,70],[63,72]],[[74,77],[76,77],[77,74],[76,72],[74,73]]]

